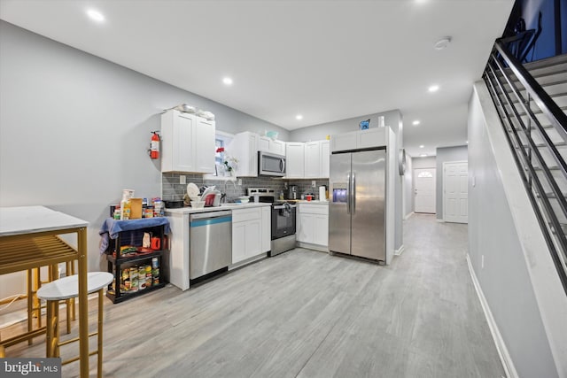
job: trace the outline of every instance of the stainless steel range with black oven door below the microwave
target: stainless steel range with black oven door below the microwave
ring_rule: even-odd
[[[296,204],[276,200],[274,189],[249,188],[248,196],[250,196],[251,201],[254,201],[254,197],[258,197],[260,202],[272,204],[272,243],[268,256],[276,256],[282,252],[294,249],[296,240]]]

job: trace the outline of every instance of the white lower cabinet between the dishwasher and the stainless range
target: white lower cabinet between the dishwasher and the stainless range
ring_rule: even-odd
[[[266,210],[269,213],[270,208],[268,206],[253,207],[232,211],[232,264],[269,250],[269,234],[268,249],[266,249],[266,223],[268,223],[268,229],[270,223],[264,221]]]

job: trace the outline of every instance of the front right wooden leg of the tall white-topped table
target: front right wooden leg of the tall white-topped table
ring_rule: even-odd
[[[89,303],[87,289],[87,228],[77,233],[77,252],[79,260],[79,358],[81,377],[89,377]]]

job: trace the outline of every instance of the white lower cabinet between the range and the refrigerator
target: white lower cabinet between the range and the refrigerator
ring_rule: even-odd
[[[329,245],[329,204],[299,204],[296,232],[299,243]]]

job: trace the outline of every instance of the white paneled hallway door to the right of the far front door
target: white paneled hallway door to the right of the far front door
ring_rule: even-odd
[[[443,163],[443,220],[469,221],[469,165],[466,161]]]

